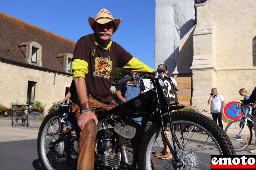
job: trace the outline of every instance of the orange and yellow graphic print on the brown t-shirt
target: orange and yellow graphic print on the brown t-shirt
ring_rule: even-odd
[[[107,58],[103,57],[96,57],[95,58],[95,71],[93,76],[110,78],[110,72],[112,70],[112,61],[108,60]]]

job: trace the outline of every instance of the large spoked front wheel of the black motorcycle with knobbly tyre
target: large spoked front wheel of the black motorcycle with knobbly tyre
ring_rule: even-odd
[[[139,169],[211,169],[211,155],[235,154],[232,143],[224,131],[208,117],[190,111],[171,114],[177,158],[183,163],[177,167],[172,156],[156,157],[163,148],[161,120],[153,122],[144,134],[139,147]],[[165,133],[170,130],[167,115],[163,116]],[[190,128],[200,130],[190,131]],[[172,141],[170,131],[168,140]],[[173,147],[173,143],[171,142]]]

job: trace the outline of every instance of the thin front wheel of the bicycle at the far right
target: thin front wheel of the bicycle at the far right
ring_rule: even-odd
[[[227,133],[228,137],[230,138],[234,150],[236,152],[241,152],[245,150],[252,142],[252,129],[249,127],[249,124],[247,123],[244,126],[244,130],[242,132],[241,140],[235,140],[234,137],[239,136],[240,131],[240,123],[243,124],[244,120],[234,120],[230,123],[228,123],[228,126],[225,129],[225,132]]]

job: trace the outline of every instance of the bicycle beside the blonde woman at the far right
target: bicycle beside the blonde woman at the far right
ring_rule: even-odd
[[[225,132],[227,133],[228,137],[231,139],[234,150],[236,152],[241,152],[245,150],[252,142],[252,127],[253,122],[251,124],[248,123],[248,118],[252,121],[252,115],[249,114],[250,108],[246,112],[246,107],[242,103],[242,119],[234,120],[228,123]],[[252,106],[250,104],[249,106]]]

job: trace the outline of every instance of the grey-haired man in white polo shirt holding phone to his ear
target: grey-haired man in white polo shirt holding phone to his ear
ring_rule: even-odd
[[[222,115],[223,115],[223,110],[225,107],[225,101],[222,95],[218,94],[216,88],[212,88],[212,91],[210,93],[210,98],[208,100],[208,104],[212,104],[212,119],[214,122],[218,123],[220,127],[223,129],[222,125]]]

